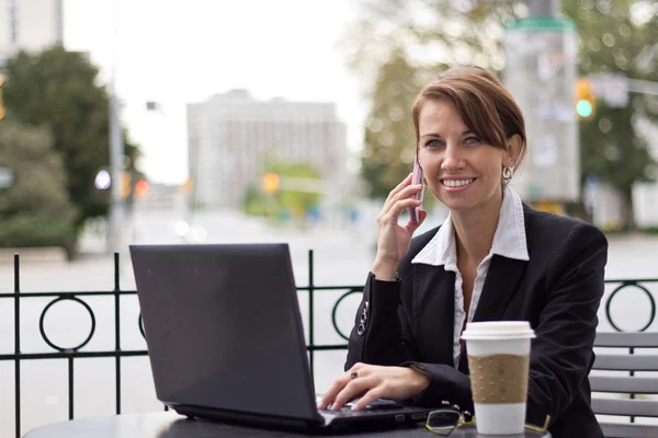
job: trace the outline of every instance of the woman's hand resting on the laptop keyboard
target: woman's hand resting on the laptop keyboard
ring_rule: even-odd
[[[429,376],[407,367],[384,367],[354,364],[329,388],[318,408],[331,406],[338,411],[358,399],[352,411],[361,411],[377,399],[407,400],[420,394],[430,384]]]

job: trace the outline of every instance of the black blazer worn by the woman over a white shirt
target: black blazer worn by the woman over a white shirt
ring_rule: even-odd
[[[590,408],[588,374],[608,241],[586,222],[525,205],[523,214],[530,261],[494,255],[474,321],[529,321],[535,331],[527,423],[542,426],[551,415],[549,431],[556,438],[603,437]],[[473,412],[466,354],[458,369],[453,361],[455,274],[443,266],[411,264],[438,230],[413,238],[399,265],[400,280],[368,275],[345,370],[358,361],[417,364],[429,373],[430,384],[416,403],[438,406],[447,400]],[[359,330],[365,302],[365,323]]]

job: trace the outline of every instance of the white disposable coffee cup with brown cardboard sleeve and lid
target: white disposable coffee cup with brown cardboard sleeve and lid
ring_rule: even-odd
[[[523,434],[534,331],[525,321],[466,324],[470,390],[478,434]]]

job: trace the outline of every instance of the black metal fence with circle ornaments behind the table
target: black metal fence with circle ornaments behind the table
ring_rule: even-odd
[[[0,300],[13,299],[14,304],[14,353],[13,354],[0,354],[0,362],[13,361],[14,362],[14,379],[15,379],[15,436],[21,436],[21,362],[30,360],[43,360],[43,359],[64,359],[68,362],[68,417],[72,419],[73,413],[73,388],[75,388],[75,360],[80,358],[114,358],[115,361],[115,397],[116,414],[122,413],[121,406],[121,376],[122,376],[122,358],[136,357],[136,356],[148,356],[147,350],[129,350],[122,349],[121,344],[121,297],[135,296],[135,290],[121,290],[120,287],[120,256],[114,254],[114,289],[111,291],[76,291],[76,292],[22,292],[21,291],[21,270],[20,270],[20,257],[19,254],[14,255],[14,291],[12,293],[0,293]],[[658,283],[658,278],[643,278],[643,279],[622,279],[622,280],[606,280],[609,285],[616,286],[614,290],[608,296],[605,300],[605,316],[610,325],[616,330],[622,331],[617,323],[612,318],[613,300],[619,295],[627,290],[628,288],[637,288],[646,295],[649,303],[649,318],[647,323],[639,328],[639,331],[646,331],[654,323],[656,318],[656,301],[654,295],[645,285]],[[348,339],[348,334],[341,332],[337,322],[337,312],[339,304],[352,293],[361,293],[363,291],[363,285],[358,286],[316,286],[314,283],[314,253],[313,250],[308,252],[308,286],[298,287],[298,291],[305,291],[308,293],[308,332],[307,332],[307,350],[309,355],[310,371],[311,374],[315,370],[315,353],[327,351],[327,350],[341,350],[347,349],[347,344],[328,344],[328,345],[316,345],[315,344],[315,302],[314,297],[318,291],[329,290],[343,290],[342,293],[334,302],[331,311],[331,322],[336,333],[342,338]],[[88,297],[113,297],[114,298],[114,349],[101,350],[101,351],[81,351],[81,349],[89,344],[93,338],[97,327],[95,314],[92,308],[84,301]],[[29,298],[53,298],[43,309],[39,318],[39,333],[43,341],[53,348],[53,351],[46,353],[21,353],[21,300]],[[44,320],[48,310],[60,301],[75,301],[82,306],[89,313],[91,320],[91,328],[89,335],[83,342],[75,347],[64,348],[56,345],[48,337],[45,327]],[[141,326],[141,316],[138,321],[139,332],[144,336],[144,327]]]

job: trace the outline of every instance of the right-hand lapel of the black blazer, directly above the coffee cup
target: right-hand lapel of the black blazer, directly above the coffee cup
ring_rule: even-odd
[[[473,321],[500,321],[527,262],[494,254]]]

